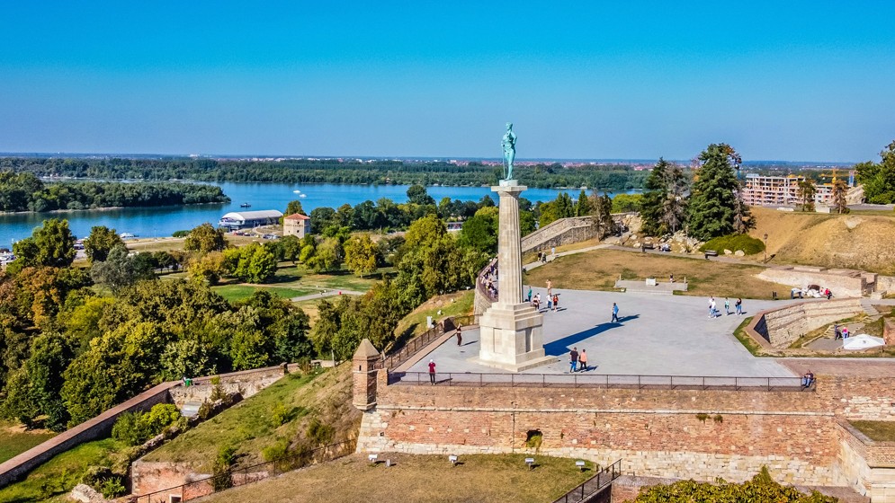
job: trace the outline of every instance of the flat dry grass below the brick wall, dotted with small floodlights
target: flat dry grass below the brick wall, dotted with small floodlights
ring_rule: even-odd
[[[528,454],[530,455],[530,454]],[[375,466],[366,454],[353,454],[329,463],[290,472],[210,496],[203,501],[255,503],[265,501],[354,502],[401,501],[402,503],[543,503],[557,499],[594,472],[580,472],[575,461],[542,455],[538,466],[525,466],[526,454],[479,454],[460,456],[452,467],[447,456],[380,454]],[[587,466],[593,468],[591,463]]]

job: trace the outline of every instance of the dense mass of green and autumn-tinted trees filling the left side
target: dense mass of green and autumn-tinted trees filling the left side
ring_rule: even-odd
[[[164,380],[313,356],[308,316],[288,301],[259,291],[230,304],[204,281],[158,280],[188,257],[131,255],[110,231],[88,238],[90,269],[72,266],[64,220],[16,243],[0,274],[3,417],[58,430]]]

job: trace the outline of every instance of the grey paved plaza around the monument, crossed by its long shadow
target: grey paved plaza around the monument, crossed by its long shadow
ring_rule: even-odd
[[[527,292],[526,286],[524,291]],[[546,298],[545,288],[534,288]],[[568,351],[587,350],[589,374],[704,375],[735,377],[791,377],[801,375],[773,358],[753,357],[733,336],[747,316],[792,301],[744,299],[743,316],[724,313],[724,299],[716,298],[720,317],[709,318],[708,298],[657,296],[585,290],[561,290],[557,312],[544,315],[544,349],[558,362],[526,370],[523,374],[568,373]],[[730,309],[737,299],[730,299]],[[619,305],[619,322],[610,322],[613,302]],[[469,361],[479,355],[479,331],[463,331],[463,344],[446,340],[412,366],[426,372],[430,358],[439,373],[503,373]]]

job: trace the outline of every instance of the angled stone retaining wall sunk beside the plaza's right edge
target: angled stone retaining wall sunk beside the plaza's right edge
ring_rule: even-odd
[[[857,298],[812,300],[757,313],[748,330],[756,331],[771,347],[783,349],[810,331],[863,311]]]

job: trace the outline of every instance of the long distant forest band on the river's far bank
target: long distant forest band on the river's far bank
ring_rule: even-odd
[[[0,170],[37,176],[65,176],[146,181],[271,181],[281,183],[395,183],[400,185],[492,185],[499,166],[477,162],[361,161],[352,159],[289,159],[283,161],[215,161],[211,159],[0,159]],[[564,167],[542,163],[516,168],[518,180],[529,187],[592,187],[622,192],[640,189],[646,172],[631,166]]]

